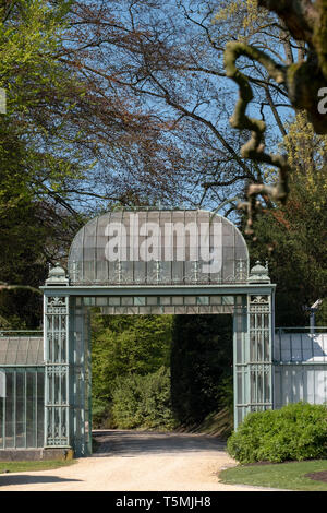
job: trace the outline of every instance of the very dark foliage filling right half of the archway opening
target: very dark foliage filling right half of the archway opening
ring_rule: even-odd
[[[171,395],[175,418],[198,423],[231,406],[232,329],[230,315],[177,315],[171,349]],[[228,401],[228,405],[227,405]],[[230,404],[231,403],[231,404]]]

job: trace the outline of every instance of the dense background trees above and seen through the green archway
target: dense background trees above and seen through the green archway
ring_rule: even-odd
[[[77,229],[114,205],[215,208],[227,201],[219,213],[245,226],[230,200],[276,176],[240,157],[245,138],[228,121],[235,92],[225,75],[226,41],[259,41],[283,63],[306,51],[254,3],[1,3],[1,329],[40,326],[48,265],[65,265]],[[264,70],[251,61],[240,69],[255,91],[251,108],[270,127],[267,145],[281,142],[293,169],[284,206],[262,196],[256,240],[246,239],[251,261],[269,261],[277,325],[307,325],[303,307],[327,287],[326,136],[302,112],[288,118],[287,92]],[[316,319],[327,325],[326,299]],[[158,426],[154,405],[162,427],[198,423],[231,404],[230,319],[95,314],[93,333],[98,425],[135,427],[142,417]],[[129,418],[120,408],[126,391],[136,408]]]

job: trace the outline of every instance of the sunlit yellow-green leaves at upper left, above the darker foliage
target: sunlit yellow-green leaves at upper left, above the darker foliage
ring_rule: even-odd
[[[0,86],[7,114],[0,117],[0,213],[22,200],[59,199],[64,182],[81,175],[66,140],[65,120],[82,88],[58,59],[71,2],[7,2],[0,11]],[[72,134],[70,134],[72,135]]]

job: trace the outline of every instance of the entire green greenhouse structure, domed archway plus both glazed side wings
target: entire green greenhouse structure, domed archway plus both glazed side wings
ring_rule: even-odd
[[[119,210],[75,236],[41,287],[41,333],[0,333],[0,461],[92,453],[90,309],[233,317],[235,428],[250,411],[327,401],[327,334],[275,327],[267,264],[201,210]],[[24,453],[24,454],[23,454]],[[24,457],[23,457],[24,456]]]

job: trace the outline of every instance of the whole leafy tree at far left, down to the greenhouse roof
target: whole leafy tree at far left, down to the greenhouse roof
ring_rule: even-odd
[[[39,326],[38,286],[47,263],[61,255],[80,220],[65,200],[82,168],[76,153],[64,153],[64,118],[73,107],[66,91],[78,97],[81,87],[57,59],[70,5],[12,0],[0,8],[0,86],[7,91],[0,115],[0,314],[9,327]]]

